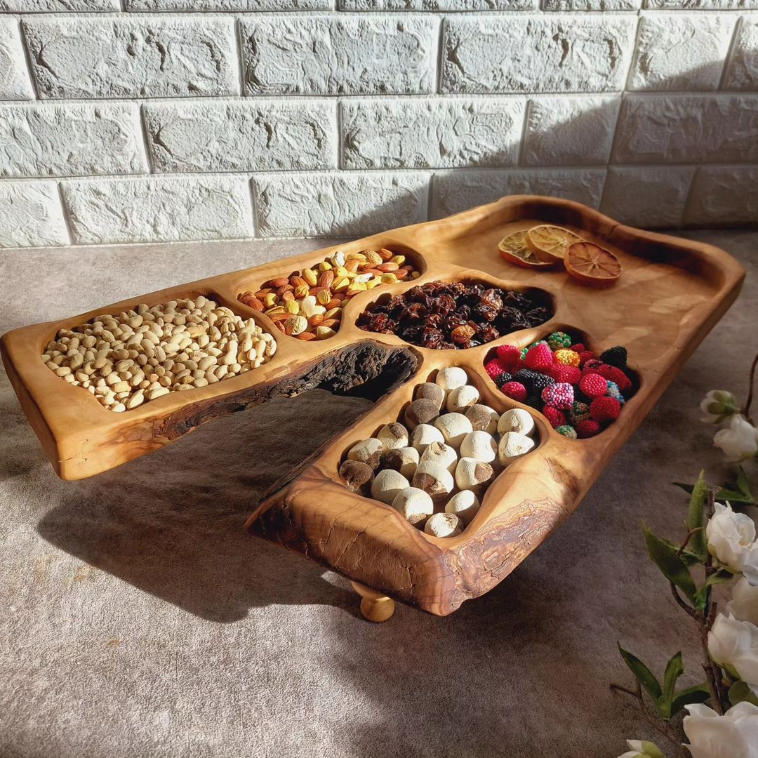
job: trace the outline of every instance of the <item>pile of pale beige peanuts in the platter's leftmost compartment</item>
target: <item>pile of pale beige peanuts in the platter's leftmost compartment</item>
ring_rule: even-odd
[[[61,329],[42,360],[108,410],[122,412],[258,368],[276,349],[252,318],[201,295]]]

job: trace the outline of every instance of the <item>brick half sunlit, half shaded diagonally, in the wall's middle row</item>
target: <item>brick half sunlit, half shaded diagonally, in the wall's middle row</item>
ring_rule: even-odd
[[[617,97],[532,99],[522,161],[531,166],[606,164],[620,104]]]

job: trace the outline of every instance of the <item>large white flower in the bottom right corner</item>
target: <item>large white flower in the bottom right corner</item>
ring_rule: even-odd
[[[758,758],[758,706],[738,703],[723,716],[702,703],[685,707],[692,758]]]

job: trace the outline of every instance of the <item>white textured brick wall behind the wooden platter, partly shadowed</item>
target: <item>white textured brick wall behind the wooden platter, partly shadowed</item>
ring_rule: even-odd
[[[758,223],[758,0],[0,0],[0,247],[509,193]]]

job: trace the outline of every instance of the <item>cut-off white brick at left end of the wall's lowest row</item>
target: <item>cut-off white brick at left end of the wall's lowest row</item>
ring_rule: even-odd
[[[0,183],[0,247],[67,245],[55,182]]]

